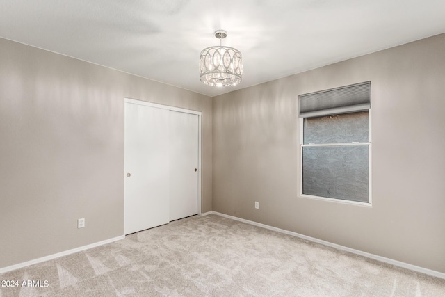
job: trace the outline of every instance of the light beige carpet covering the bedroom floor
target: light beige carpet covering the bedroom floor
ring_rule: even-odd
[[[3,273],[0,296],[445,296],[445,280],[246,225],[193,216]]]

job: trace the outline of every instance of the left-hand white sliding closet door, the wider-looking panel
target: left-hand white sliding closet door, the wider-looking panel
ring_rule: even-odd
[[[124,232],[130,234],[169,222],[170,111],[124,106]]]

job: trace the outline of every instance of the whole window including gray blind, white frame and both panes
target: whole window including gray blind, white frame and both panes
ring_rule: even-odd
[[[371,204],[371,83],[300,95],[300,195]]]

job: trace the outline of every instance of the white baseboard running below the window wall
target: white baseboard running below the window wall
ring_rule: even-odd
[[[288,235],[291,235],[291,236],[296,236],[296,237],[299,237],[300,239],[306,239],[308,241],[321,243],[324,246],[330,246],[332,248],[337,248],[337,250],[344,250],[346,252],[352,252],[353,254],[356,254],[356,255],[360,255],[360,256],[363,256],[363,257],[370,258],[370,259],[375,259],[377,261],[384,262],[384,263],[387,263],[387,264],[391,264],[391,265],[394,265],[394,266],[407,268],[407,269],[410,269],[412,271],[416,271],[416,272],[419,272],[419,273],[432,275],[432,276],[435,276],[436,278],[443,278],[443,279],[445,279],[445,273],[442,273],[442,272],[439,272],[439,271],[434,271],[434,270],[431,270],[431,269],[428,269],[428,268],[423,268],[423,267],[415,266],[415,265],[412,265],[412,264],[407,264],[405,262],[400,262],[400,261],[397,261],[397,260],[394,260],[394,259],[380,257],[378,255],[370,254],[369,252],[362,252],[361,250],[355,250],[353,248],[348,248],[346,246],[340,246],[339,244],[336,244],[336,243],[331,243],[329,241],[316,239],[316,238],[311,237],[311,236],[306,236],[306,235],[299,234],[299,233],[296,233],[296,232],[283,230],[283,229],[280,229],[280,228],[277,228],[277,227],[264,225],[264,224],[261,224],[261,223],[254,222],[252,220],[245,220],[243,218],[238,218],[236,216],[229,216],[228,214],[221,214],[221,213],[219,213],[217,211],[209,211],[209,212],[206,213],[206,215],[209,214],[209,213],[216,214],[218,216],[223,216],[225,218],[231,218],[232,220],[238,220],[240,222],[243,222],[243,223],[246,223],[246,224],[250,224],[250,225],[254,225],[254,226],[257,226],[257,227],[261,227],[261,228],[265,228],[265,229],[268,229],[268,230],[273,230],[273,231],[284,233],[284,234],[288,234]]]

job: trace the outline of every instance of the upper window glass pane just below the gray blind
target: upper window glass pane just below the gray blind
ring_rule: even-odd
[[[305,118],[303,143],[369,142],[369,111]]]

